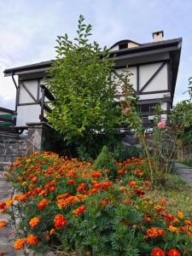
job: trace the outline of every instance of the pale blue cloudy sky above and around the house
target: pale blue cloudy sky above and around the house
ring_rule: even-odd
[[[191,0],[0,0],[0,107],[15,108],[15,85],[3,76],[6,68],[55,57],[55,38],[76,36],[79,15],[93,26],[92,40],[101,46],[121,39],[143,44],[152,32],[164,38],[183,38],[174,103],[192,76]]]

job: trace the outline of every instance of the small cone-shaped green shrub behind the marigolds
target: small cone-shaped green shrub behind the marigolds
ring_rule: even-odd
[[[108,170],[109,175],[114,177],[117,168],[114,163],[113,154],[108,151],[107,146],[102,147],[102,152],[97,156],[93,166],[98,170]]]

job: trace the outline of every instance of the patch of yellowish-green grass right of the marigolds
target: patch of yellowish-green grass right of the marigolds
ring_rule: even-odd
[[[192,188],[177,174],[167,174],[164,187],[155,187],[148,191],[148,195],[154,200],[165,199],[170,213],[175,214],[180,210],[192,218]]]

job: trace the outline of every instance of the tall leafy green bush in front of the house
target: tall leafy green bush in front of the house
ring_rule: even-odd
[[[47,117],[69,148],[83,145],[96,156],[103,145],[101,137],[105,144],[114,139],[122,114],[114,103],[117,83],[111,79],[113,61],[106,47],[90,43],[91,29],[80,15],[74,42],[67,34],[57,37],[55,61],[46,79],[56,101]]]

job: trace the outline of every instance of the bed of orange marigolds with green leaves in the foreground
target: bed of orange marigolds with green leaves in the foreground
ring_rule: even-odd
[[[192,221],[181,209],[170,214],[165,200],[148,198],[146,160],[131,158],[116,166],[113,181],[108,170],[53,153],[18,158],[7,178],[19,193],[0,202],[1,213],[19,218],[15,250],[191,255]]]

